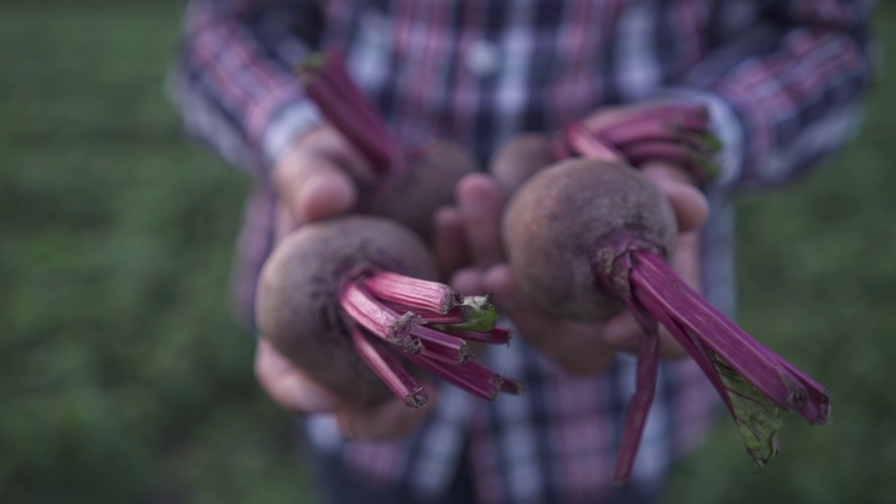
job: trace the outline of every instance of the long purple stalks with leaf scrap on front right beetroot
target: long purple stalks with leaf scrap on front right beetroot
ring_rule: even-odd
[[[830,393],[806,373],[747,335],[691,289],[655,248],[628,231],[600,245],[616,256],[607,270],[595,271],[602,286],[625,300],[644,327],[638,355],[637,391],[629,404],[616,463],[616,482],[631,474],[650,410],[658,366],[656,325],[665,326],[718,391],[737,423],[745,447],[761,468],[779,451],[778,408],[796,412],[810,424],[829,421]]]

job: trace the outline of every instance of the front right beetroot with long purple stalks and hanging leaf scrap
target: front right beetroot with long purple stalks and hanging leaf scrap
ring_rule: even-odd
[[[778,408],[829,419],[830,395],[754,340],[666,263],[676,220],[666,196],[620,161],[571,160],[530,178],[506,208],[505,250],[521,291],[557,317],[606,320],[628,308],[643,329],[636,393],[615,479],[625,482],[653,399],[658,322],[701,367],[756,467],[778,453]]]

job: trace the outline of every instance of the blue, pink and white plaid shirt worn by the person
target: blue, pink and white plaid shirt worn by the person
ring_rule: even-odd
[[[321,121],[291,74],[309,50],[343,48],[402,142],[450,137],[482,161],[521,131],[601,106],[702,100],[726,145],[708,189],[703,291],[733,313],[731,196],[787,182],[848,140],[869,81],[871,9],[858,0],[192,0],[169,89],[188,131],[257,182],[234,282],[247,317],[271,248],[271,163]],[[344,443],[327,416],[309,422],[311,438],[367,481],[424,500],[452,481],[464,447],[482,502],[606,497],[633,359],[573,378],[521,341],[481,357],[527,393],[484,404],[443,387],[409,439]],[[702,439],[714,396],[692,362],[663,363],[634,484],[658,484]]]

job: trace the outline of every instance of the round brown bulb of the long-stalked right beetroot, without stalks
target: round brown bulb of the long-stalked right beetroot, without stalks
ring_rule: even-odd
[[[504,213],[504,249],[521,291],[556,317],[600,321],[624,308],[600,286],[600,244],[632,230],[661,256],[674,253],[675,213],[650,180],[624,163],[573,159],[539,171]]]

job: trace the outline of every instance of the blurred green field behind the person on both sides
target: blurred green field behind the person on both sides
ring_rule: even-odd
[[[177,2],[0,4],[0,502],[301,503],[228,311],[244,176],[162,93]],[[740,322],[833,393],[761,474],[722,421],[671,501],[896,501],[896,5],[857,141],[745,200]],[[889,342],[889,343],[887,343]]]

